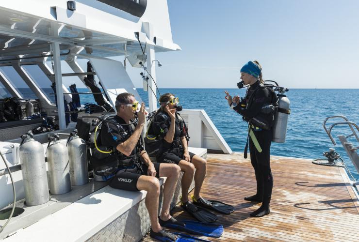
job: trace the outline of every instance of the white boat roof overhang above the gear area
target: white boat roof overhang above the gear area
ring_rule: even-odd
[[[110,1],[114,6],[121,2],[145,2],[140,17],[104,2],[109,1],[77,0],[76,10],[71,11],[67,9],[67,0],[1,1],[0,63],[19,58],[22,62],[34,61],[31,58],[50,53],[52,42],[60,43],[63,60],[66,54],[141,54],[138,39],[142,48],[152,45],[156,52],[180,50],[172,41],[166,0]]]

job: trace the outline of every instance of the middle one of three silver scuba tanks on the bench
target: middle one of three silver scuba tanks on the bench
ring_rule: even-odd
[[[71,191],[70,166],[65,145],[60,143],[60,137],[55,134],[49,137],[47,148],[49,166],[49,185],[52,195],[60,195]],[[54,141],[52,144],[51,141]]]

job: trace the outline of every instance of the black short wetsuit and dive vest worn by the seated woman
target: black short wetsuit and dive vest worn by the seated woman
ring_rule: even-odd
[[[167,120],[167,121],[165,121]],[[153,135],[160,135],[162,136],[162,149],[158,152],[158,155],[156,156],[156,159],[160,163],[174,163],[179,164],[179,161],[183,160],[183,148],[181,145],[180,138],[185,136],[184,132],[184,124],[181,118],[176,115],[176,124],[175,124],[175,134],[173,136],[172,143],[168,143],[164,136],[166,136],[166,132],[161,132],[161,129],[163,130],[163,127],[161,128],[160,122],[164,122],[167,129],[170,127],[170,117],[167,113],[160,112],[154,117],[155,123],[151,125],[151,130],[149,130],[149,134]],[[193,156],[195,155],[192,152],[189,152],[189,155],[191,157],[191,161]]]

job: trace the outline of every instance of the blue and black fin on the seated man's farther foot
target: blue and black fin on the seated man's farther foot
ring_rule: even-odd
[[[167,221],[160,218],[159,222],[162,227],[175,228],[190,234],[219,238],[223,233],[223,226],[217,224],[205,224],[191,220],[179,221],[173,217]]]

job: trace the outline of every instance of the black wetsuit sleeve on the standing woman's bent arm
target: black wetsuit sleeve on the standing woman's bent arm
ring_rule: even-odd
[[[233,107],[233,109],[244,116],[246,119],[250,120],[255,117],[266,103],[270,102],[270,94],[266,88],[260,88],[254,93],[252,104],[248,107],[243,107],[241,105],[237,105]]]

